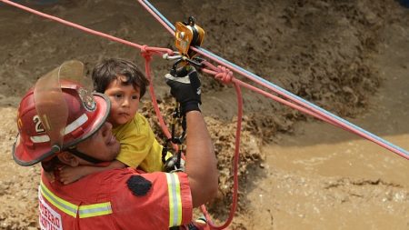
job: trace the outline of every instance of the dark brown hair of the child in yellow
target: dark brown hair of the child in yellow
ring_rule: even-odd
[[[125,79],[118,78],[118,75],[124,75]],[[145,95],[146,86],[149,85],[149,80],[134,63],[119,58],[106,59],[95,65],[92,78],[94,90],[102,94],[116,79],[121,80],[122,85],[133,85],[134,88],[138,88],[140,97]]]

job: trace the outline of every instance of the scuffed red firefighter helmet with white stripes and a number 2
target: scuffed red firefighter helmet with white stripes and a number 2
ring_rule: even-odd
[[[50,81],[47,79],[44,82]],[[37,93],[38,89],[32,88],[20,102],[17,114],[19,134],[13,145],[13,158],[18,165],[35,165],[51,159],[56,153],[95,134],[105,124],[111,107],[108,97],[91,94],[72,81],[60,80],[58,84],[56,96],[50,93],[44,96],[41,92]],[[58,129],[57,126],[62,128]],[[61,131],[57,130],[57,135],[61,134],[58,138],[55,138],[55,133],[53,135],[55,129]],[[55,142],[61,145],[55,145]]]

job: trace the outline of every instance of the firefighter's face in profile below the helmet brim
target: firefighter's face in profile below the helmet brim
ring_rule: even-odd
[[[91,137],[76,145],[78,151],[103,161],[113,161],[119,154],[120,145],[112,134],[112,125],[108,122]]]

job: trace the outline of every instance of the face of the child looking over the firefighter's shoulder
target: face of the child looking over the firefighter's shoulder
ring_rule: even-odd
[[[135,89],[133,85],[122,85],[122,82],[116,79],[108,85],[105,95],[111,100],[108,120],[114,127],[124,125],[134,118],[139,106],[139,89]]]

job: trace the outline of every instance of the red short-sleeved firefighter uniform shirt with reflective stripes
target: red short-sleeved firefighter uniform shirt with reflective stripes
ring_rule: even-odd
[[[185,173],[115,169],[87,175],[70,185],[50,183],[42,175],[38,190],[42,229],[165,230],[192,220]]]

